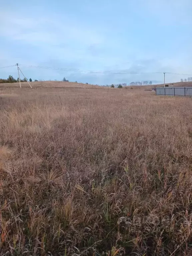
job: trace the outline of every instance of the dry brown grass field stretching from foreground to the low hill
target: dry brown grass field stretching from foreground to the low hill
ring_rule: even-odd
[[[0,255],[192,255],[192,98],[22,86],[0,87]]]

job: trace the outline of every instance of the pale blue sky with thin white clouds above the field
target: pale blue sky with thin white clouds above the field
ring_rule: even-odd
[[[191,0],[6,0],[0,4],[0,67],[19,63],[27,78],[106,85],[191,74]],[[104,71],[160,74],[115,74]],[[17,68],[0,68],[0,78]],[[166,82],[187,75],[166,74]]]

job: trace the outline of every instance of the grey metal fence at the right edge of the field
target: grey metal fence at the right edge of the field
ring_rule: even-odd
[[[161,87],[155,92],[156,95],[192,96],[192,87]]]

